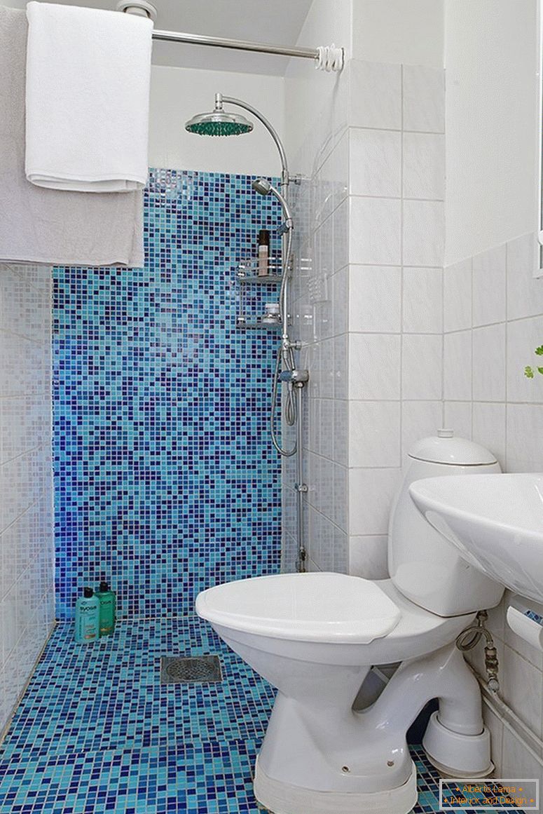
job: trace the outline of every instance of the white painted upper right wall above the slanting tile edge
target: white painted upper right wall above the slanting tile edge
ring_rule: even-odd
[[[445,0],[445,265],[536,227],[537,0]]]

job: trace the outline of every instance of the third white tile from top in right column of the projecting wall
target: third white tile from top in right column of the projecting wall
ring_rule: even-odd
[[[403,265],[441,266],[445,245],[443,204],[404,200]]]

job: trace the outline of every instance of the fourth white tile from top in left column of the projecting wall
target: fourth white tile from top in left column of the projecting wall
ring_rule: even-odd
[[[402,330],[402,270],[397,266],[350,265],[349,330]]]

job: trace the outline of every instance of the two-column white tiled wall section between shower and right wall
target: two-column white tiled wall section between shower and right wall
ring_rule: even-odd
[[[442,419],[444,101],[440,69],[351,63],[349,568],[368,579],[406,449]]]

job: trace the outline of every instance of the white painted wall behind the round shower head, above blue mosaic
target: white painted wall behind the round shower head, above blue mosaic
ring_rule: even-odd
[[[282,137],[284,84],[282,77],[154,65],[150,91],[150,166],[208,173],[279,174],[276,146],[258,121],[252,133],[230,138],[187,133],[185,121],[196,113],[211,110],[215,92],[221,92],[257,107]],[[245,115],[239,107],[231,109]],[[247,114],[247,118],[251,116]]]

